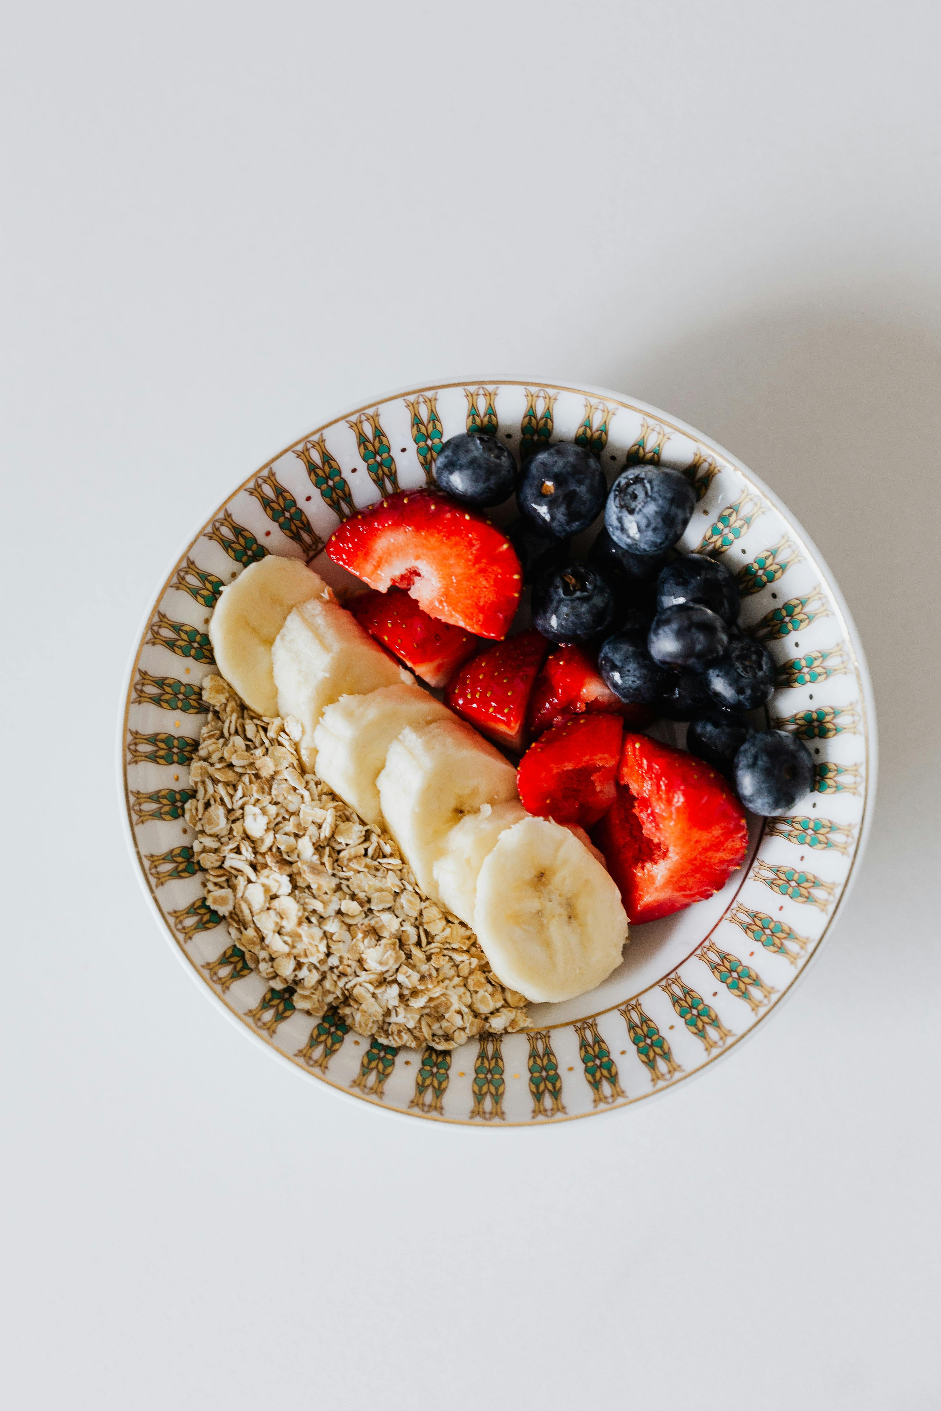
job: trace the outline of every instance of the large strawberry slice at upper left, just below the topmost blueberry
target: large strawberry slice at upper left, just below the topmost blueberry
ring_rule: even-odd
[[[519,604],[522,569],[505,533],[430,490],[403,490],[346,519],[327,555],[371,588],[405,588],[442,622],[504,638]]]

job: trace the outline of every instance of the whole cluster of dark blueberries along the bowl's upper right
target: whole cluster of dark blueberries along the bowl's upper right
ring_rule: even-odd
[[[810,790],[807,746],[784,731],[753,731],[745,717],[769,700],[775,669],[738,626],[735,580],[717,559],[674,552],[696,505],[684,476],[632,466],[608,491],[597,457],[563,442],[518,474],[501,442],[470,432],[444,443],[435,477],[475,508],[515,488],[521,518],[508,535],[532,584],[535,626],[552,642],[600,645],[615,696],[688,721],[687,749],[732,780],[746,809],[783,814]],[[573,559],[573,538],[602,511],[588,562]]]

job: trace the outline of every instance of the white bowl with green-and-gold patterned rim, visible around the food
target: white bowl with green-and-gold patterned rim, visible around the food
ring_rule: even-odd
[[[206,904],[183,817],[189,762],[213,670],[206,629],[221,588],[265,553],[305,559],[334,586],[333,529],[432,478],[437,449],[492,432],[518,454],[574,440],[609,480],[625,466],[683,471],[696,490],[684,552],[722,557],[742,625],[769,648],[769,722],[806,741],[814,789],[786,818],[752,820],[745,865],[722,892],[632,931],[598,989],[530,1006],[522,1033],[451,1053],[395,1050],[320,1020],[248,969]],[[512,505],[495,512],[514,518]],[[595,531],[588,532],[588,538]],[[370,401],[317,426],[233,490],[189,543],[148,615],[120,737],[127,835],[164,934],[205,993],[271,1053],[327,1086],[429,1122],[538,1127],[632,1106],[708,1068],[790,995],[845,903],[866,842],[876,776],[862,646],[820,553],[776,495],[708,437],[643,402],[538,378],[467,378]],[[681,742],[684,727],[664,727]],[[670,731],[673,734],[670,734]]]

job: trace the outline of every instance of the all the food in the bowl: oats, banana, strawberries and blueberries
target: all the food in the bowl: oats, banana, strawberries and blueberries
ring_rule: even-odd
[[[336,529],[360,590],[275,556],[223,590],[186,818],[209,904],[296,1007],[453,1048],[587,993],[629,924],[718,892],[746,809],[787,813],[813,763],[749,721],[772,662],[728,570],[676,549],[680,473],[608,488],[580,446],[521,470],[468,432],[435,481]],[[485,511],[512,494],[502,532]]]

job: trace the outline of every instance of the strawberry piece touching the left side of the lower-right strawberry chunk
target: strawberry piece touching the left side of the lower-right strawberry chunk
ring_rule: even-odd
[[[619,715],[573,715],[519,761],[516,787],[528,813],[590,828],[617,797]]]

